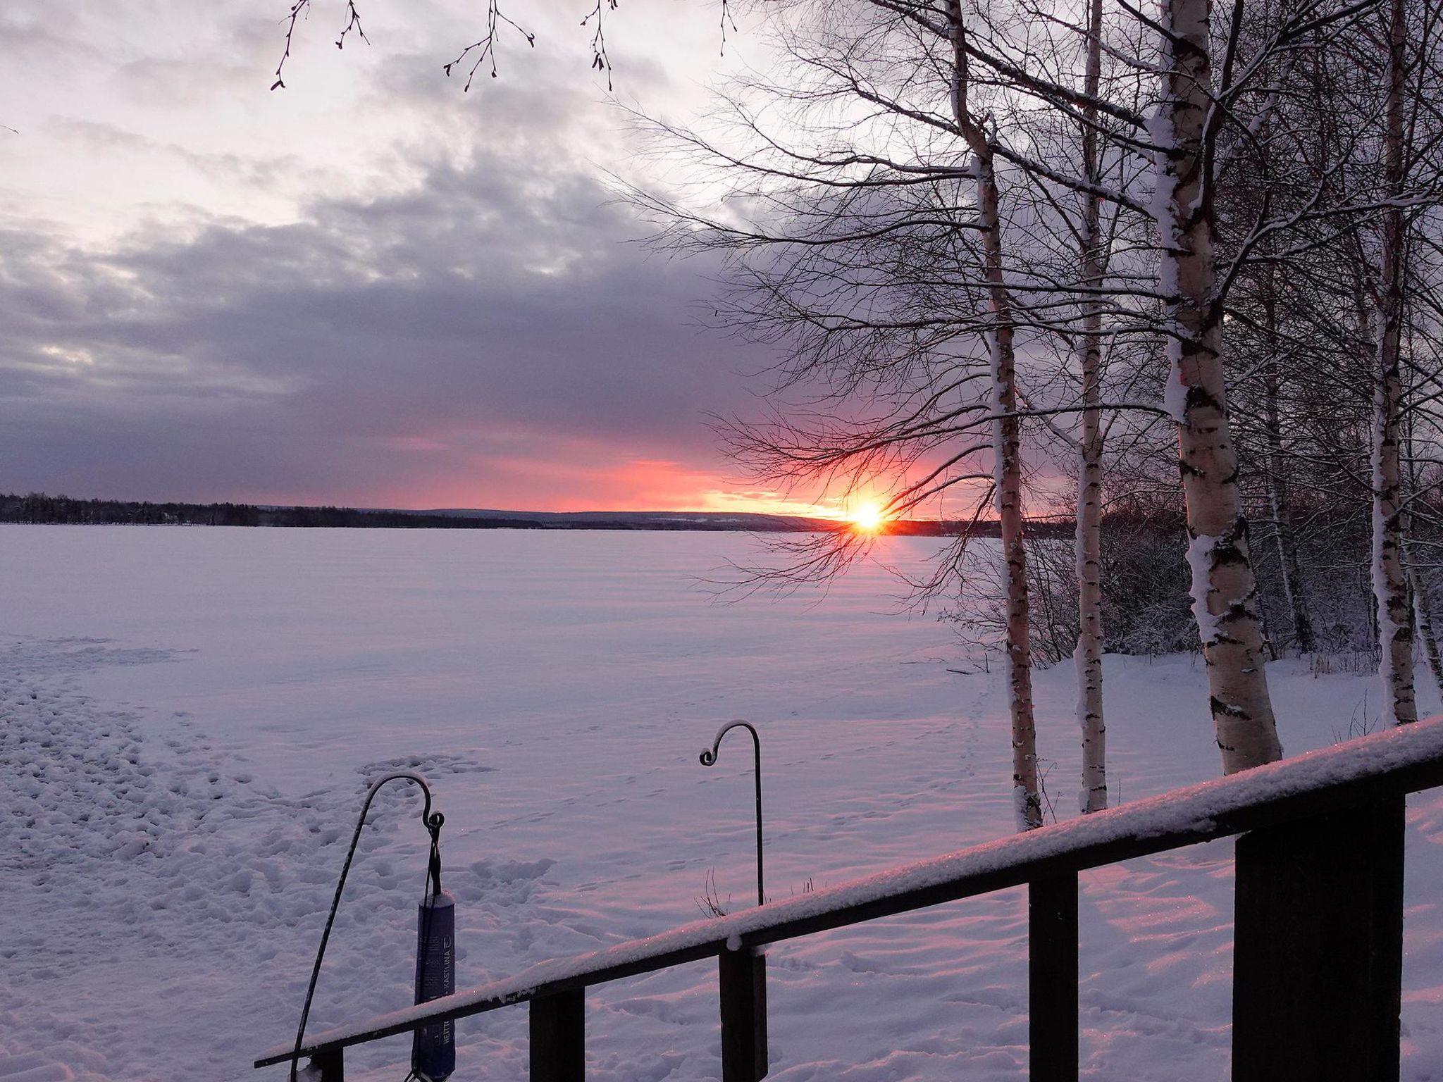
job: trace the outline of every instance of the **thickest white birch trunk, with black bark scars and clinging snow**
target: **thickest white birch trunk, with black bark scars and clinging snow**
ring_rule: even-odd
[[[1281,757],[1263,668],[1257,581],[1238,492],[1222,371],[1222,313],[1215,303],[1215,211],[1203,128],[1211,107],[1208,0],[1165,0],[1165,102],[1154,120],[1162,287],[1169,304],[1167,407],[1188,512],[1192,610],[1202,639],[1222,769]]]

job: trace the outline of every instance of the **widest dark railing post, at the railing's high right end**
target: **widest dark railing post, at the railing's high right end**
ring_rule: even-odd
[[[1238,838],[1232,1079],[1398,1078],[1403,796]]]

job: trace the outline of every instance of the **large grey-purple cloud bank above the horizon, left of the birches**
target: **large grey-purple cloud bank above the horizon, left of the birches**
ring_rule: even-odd
[[[701,413],[763,361],[691,326],[704,268],[639,232],[501,151],[293,225],[102,255],[10,235],[0,488],[361,502],[528,456],[714,466]]]

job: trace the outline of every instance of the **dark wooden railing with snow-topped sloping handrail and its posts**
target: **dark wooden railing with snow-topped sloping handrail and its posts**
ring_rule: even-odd
[[[1232,1078],[1397,1079],[1404,796],[1443,785],[1443,717],[700,920],[306,1039],[322,1082],[343,1049],[531,1004],[531,1081],[580,1082],[584,994],[716,956],[722,1078],[766,1073],[766,944],[1026,884],[1033,1082],[1078,1073],[1078,871],[1234,834]],[[864,1024],[859,1020],[857,1024]],[[291,1044],[255,1060],[290,1060]]]

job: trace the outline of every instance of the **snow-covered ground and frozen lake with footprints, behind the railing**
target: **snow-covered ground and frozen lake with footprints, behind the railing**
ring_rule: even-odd
[[[934,542],[892,540],[889,561]],[[367,779],[446,814],[459,980],[662,931],[1007,832],[997,671],[859,567],[825,600],[717,604],[724,534],[0,527],[0,1079],[281,1078]],[[967,669],[970,672],[954,672]],[[1348,736],[1372,679],[1271,668],[1289,752]],[[1107,659],[1114,798],[1218,772],[1201,668]],[[1038,675],[1059,815],[1072,674]],[[1424,707],[1437,708],[1436,690]],[[734,743],[732,743],[734,742]],[[408,1001],[426,837],[395,786],[364,835],[312,1027]],[[1443,1078],[1443,795],[1410,801],[1404,1076]],[[1084,1072],[1227,1073],[1231,845],[1089,873]],[[778,1082],[1016,1079],[1019,892],[776,945]],[[714,965],[602,985],[589,1076],[719,1075]],[[457,1078],[525,1076],[525,1011],[459,1026]],[[400,1079],[408,1042],[348,1056]],[[9,1076],[9,1078],[7,1078]]]

